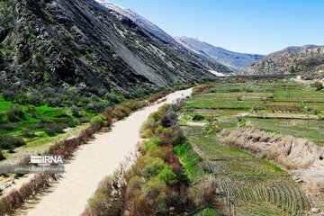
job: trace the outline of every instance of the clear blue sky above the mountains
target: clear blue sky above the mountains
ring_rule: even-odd
[[[324,44],[324,0],[112,0],[172,36],[269,54]]]

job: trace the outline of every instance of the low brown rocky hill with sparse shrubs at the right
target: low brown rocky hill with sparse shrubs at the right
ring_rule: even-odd
[[[308,74],[324,69],[324,46],[307,45],[289,47],[272,53],[239,73],[263,74]]]

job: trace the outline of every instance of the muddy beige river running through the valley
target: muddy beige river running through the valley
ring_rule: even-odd
[[[65,166],[63,178],[52,188],[53,192],[42,195],[38,203],[20,215],[80,215],[103,177],[112,174],[135,150],[139,129],[148,115],[161,105],[190,94],[192,89],[169,94],[165,102],[133,112],[124,121],[114,123],[112,131],[96,134],[93,141],[76,151],[75,158]]]

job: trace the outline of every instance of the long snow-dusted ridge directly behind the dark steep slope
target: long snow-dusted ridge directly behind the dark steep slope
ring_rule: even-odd
[[[144,17],[140,16],[136,12],[131,11],[128,8],[121,7],[117,4],[113,4],[108,0],[95,0],[98,3],[103,4],[105,7],[111,9],[112,11],[117,12],[123,16],[130,18],[130,20],[139,27],[148,35],[152,40],[156,40],[159,43],[163,43],[168,49],[171,49],[180,55],[183,55],[185,58],[189,58],[194,64],[197,64],[202,67],[208,68],[211,71],[218,71],[221,73],[229,73],[231,70],[228,67],[220,64],[217,60],[209,57],[199,55],[194,51],[185,48],[183,45],[178,43],[173,37],[168,35],[166,31],[160,29],[156,24],[151,23]]]

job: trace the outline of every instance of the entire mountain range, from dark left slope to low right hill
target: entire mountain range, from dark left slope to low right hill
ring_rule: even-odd
[[[12,0],[0,7],[0,91],[50,86],[140,94],[238,70],[300,73],[323,64],[323,47],[293,47],[264,58],[173,38],[106,0]]]

